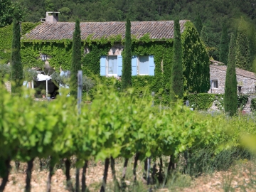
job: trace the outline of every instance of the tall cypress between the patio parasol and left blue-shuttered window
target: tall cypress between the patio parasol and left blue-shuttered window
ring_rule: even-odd
[[[73,33],[72,61],[70,66],[70,95],[78,95],[78,70],[81,70],[81,31],[80,22],[75,21]]]

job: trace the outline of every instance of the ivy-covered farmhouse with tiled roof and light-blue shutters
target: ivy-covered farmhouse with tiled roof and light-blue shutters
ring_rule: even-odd
[[[21,57],[24,66],[38,67],[46,58],[43,63],[57,71],[70,69],[75,23],[58,22],[58,14],[48,12],[40,25],[23,35]],[[105,77],[121,77],[125,24],[121,21],[80,23],[83,74],[100,76],[105,81],[110,79]],[[188,69],[184,73],[185,89],[193,87],[193,91],[207,92],[210,75],[206,46],[191,21],[180,20],[180,30],[183,65]],[[132,21],[131,34],[133,87],[139,95],[148,86],[169,102],[164,94],[169,91],[173,63],[174,21]],[[197,81],[191,81],[194,78]]]

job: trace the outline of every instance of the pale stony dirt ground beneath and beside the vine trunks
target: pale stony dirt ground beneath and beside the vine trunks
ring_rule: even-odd
[[[11,162],[11,166],[12,169],[11,174],[9,175],[9,182],[7,183],[4,191],[23,191],[26,180],[26,164],[22,163],[18,172],[15,169],[14,162]],[[245,162],[233,166],[228,171],[218,171],[212,174],[203,174],[198,178],[191,178],[190,176],[182,175],[181,178],[179,178],[182,183],[169,183],[168,180],[164,188],[156,189],[154,191],[256,191],[255,168],[255,164]],[[117,172],[117,178],[120,178],[122,174],[122,163],[117,163],[115,169]],[[82,170],[80,171],[81,178]],[[86,184],[90,191],[99,191],[102,183],[103,171],[104,165],[101,162],[98,162],[97,164],[89,164],[86,173]],[[73,181],[73,186],[75,186],[75,169],[70,170],[70,175]],[[137,175],[138,180],[142,181],[142,166],[138,167]],[[32,171],[31,191],[46,191],[47,176],[48,171],[46,169],[40,171],[39,165],[35,163]],[[126,183],[129,185],[131,181],[132,179],[129,179],[129,181],[127,180]],[[142,183],[143,182],[144,181],[142,181]],[[186,183],[185,185],[183,184],[184,182]],[[107,183],[112,183],[111,169],[108,170]],[[146,184],[144,186],[146,191]],[[65,174],[63,173],[62,169],[55,169],[55,174],[51,180],[51,191],[67,191],[65,189]]]

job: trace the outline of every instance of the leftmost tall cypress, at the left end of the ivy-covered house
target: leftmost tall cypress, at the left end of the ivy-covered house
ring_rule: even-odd
[[[11,43],[11,80],[15,82],[11,85],[11,92],[17,95],[21,92],[23,83],[23,67],[21,63],[21,29],[18,21],[18,10],[14,9],[13,40]]]

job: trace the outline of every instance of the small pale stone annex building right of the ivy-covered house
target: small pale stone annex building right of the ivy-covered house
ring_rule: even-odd
[[[226,71],[227,65],[216,60],[210,60],[210,90],[208,93],[224,94]],[[256,75],[240,68],[236,68],[235,73],[238,81],[238,93],[249,95],[245,112],[250,112],[251,100],[256,97]],[[211,108],[214,109],[214,107]]]

